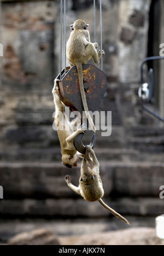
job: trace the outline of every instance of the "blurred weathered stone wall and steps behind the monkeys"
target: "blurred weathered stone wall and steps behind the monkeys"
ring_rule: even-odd
[[[84,19],[93,33],[93,1],[67,0],[69,25]],[[96,134],[104,201],[134,227],[154,227],[164,213],[164,127],[140,106],[140,65],[159,55],[164,43],[163,0],[103,0],[103,71],[108,90],[99,110],[112,111],[112,135]],[[99,1],[96,41],[100,43]],[[60,72],[60,1],[1,0],[3,57],[0,57],[0,241],[22,231],[51,228],[57,235],[125,229],[98,202],[89,203],[68,188],[78,185],[80,164],[61,163],[52,129],[52,88]],[[63,45],[64,51],[64,45]],[[64,54],[64,53],[62,53]],[[155,75],[153,104],[164,117],[164,61],[149,63]],[[63,66],[64,68],[64,66]],[[147,82],[148,68],[144,68]],[[89,137],[90,139],[90,137]]]

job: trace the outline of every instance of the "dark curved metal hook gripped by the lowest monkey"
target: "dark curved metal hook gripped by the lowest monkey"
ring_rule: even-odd
[[[83,144],[83,136],[84,133],[80,133],[74,140],[74,147],[75,149],[77,149],[78,152],[80,152],[81,154],[85,155],[86,153],[86,147]],[[92,149],[95,147],[96,144],[96,135],[95,133],[92,136],[91,139],[91,143],[90,146],[92,147]]]

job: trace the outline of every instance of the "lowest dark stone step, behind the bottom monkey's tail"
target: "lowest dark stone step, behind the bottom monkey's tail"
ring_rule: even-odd
[[[154,217],[163,213],[158,197],[124,197],[104,202],[123,216]],[[78,199],[1,200],[0,218],[114,218],[99,202]]]

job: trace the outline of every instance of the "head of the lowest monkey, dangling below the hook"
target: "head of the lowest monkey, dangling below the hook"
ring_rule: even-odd
[[[96,178],[95,173],[89,166],[85,166],[83,172],[81,172],[80,183],[92,184]]]

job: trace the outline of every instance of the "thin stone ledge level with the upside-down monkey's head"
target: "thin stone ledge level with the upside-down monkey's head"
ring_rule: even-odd
[[[58,142],[57,142],[58,144]],[[99,161],[163,161],[163,150],[161,152],[151,152],[147,149],[140,151],[133,148],[107,148],[99,147],[98,143],[95,147],[95,154]],[[61,161],[60,146],[54,147],[10,147],[0,149],[0,161],[39,161],[39,162],[53,162]]]

